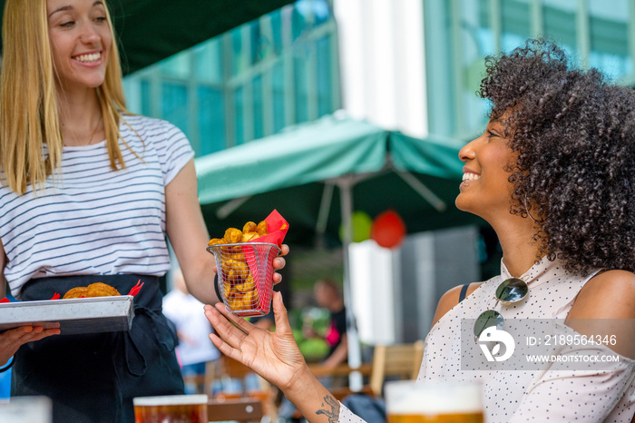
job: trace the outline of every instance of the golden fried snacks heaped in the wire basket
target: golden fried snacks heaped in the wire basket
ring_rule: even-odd
[[[238,242],[258,241],[267,235],[267,221],[248,221],[242,227],[229,228],[222,238],[212,238],[208,245],[235,244]],[[259,303],[256,282],[245,261],[245,254],[240,246],[221,247],[222,256],[219,272],[222,274],[223,294],[225,302],[231,310],[251,310]]]

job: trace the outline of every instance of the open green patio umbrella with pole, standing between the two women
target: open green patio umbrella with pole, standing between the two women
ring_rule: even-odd
[[[461,146],[327,116],[198,158],[199,200],[212,236],[273,209],[289,222],[288,243],[336,243],[342,226],[344,296],[350,304],[347,245],[354,210],[375,217],[393,209],[409,232],[479,222],[454,207]],[[355,367],[361,357],[355,325],[347,333],[349,364]]]

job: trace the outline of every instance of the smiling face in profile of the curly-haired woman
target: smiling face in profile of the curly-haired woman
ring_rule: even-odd
[[[503,123],[508,113],[487,123],[485,132],[459,152],[465,163],[463,182],[456,197],[456,207],[490,221],[500,213],[509,215],[513,184],[507,167],[517,152],[509,147],[509,133]]]

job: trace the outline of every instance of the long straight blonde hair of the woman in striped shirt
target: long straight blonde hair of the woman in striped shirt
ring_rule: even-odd
[[[125,168],[119,123],[126,110],[119,49],[104,3],[112,44],[103,84],[96,88],[112,170]],[[0,165],[4,183],[23,194],[44,186],[62,162],[60,129],[46,0],[6,0],[0,75]],[[43,156],[47,144],[48,157]],[[124,142],[126,146],[127,143]],[[130,148],[130,147],[128,147]]]

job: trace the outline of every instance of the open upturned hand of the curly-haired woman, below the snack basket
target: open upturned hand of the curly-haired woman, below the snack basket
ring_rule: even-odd
[[[270,332],[226,311],[222,303],[205,306],[205,316],[216,330],[210,334],[216,348],[284,390],[307,364],[293,337],[279,292],[274,293],[273,311],[276,331]]]

